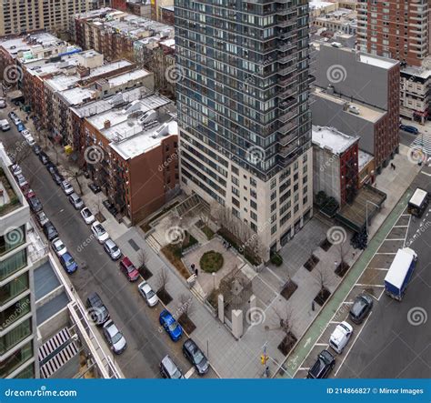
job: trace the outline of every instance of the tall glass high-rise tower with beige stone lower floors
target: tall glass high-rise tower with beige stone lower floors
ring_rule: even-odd
[[[311,217],[307,0],[175,0],[181,182],[278,249]]]

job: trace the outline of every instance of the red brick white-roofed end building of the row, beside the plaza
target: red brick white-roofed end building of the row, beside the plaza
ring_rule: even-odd
[[[117,94],[110,102],[114,107],[85,118],[84,152],[101,156],[86,168],[125,223],[135,225],[178,190],[176,109],[158,95],[125,105]]]

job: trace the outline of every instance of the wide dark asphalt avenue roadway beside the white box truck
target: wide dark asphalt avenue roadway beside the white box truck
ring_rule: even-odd
[[[412,183],[431,192],[431,167]],[[428,207],[428,208],[431,208]],[[427,216],[426,216],[427,215]],[[417,237],[413,237],[414,234]],[[406,243],[418,261],[401,302],[383,295],[337,378],[429,378],[431,374],[431,212],[412,220]]]

